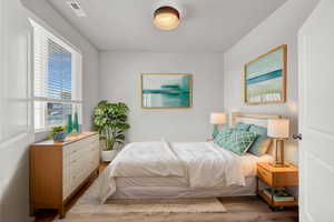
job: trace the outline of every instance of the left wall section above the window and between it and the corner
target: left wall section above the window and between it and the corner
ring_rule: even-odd
[[[23,4],[61,37],[81,50],[84,130],[91,129],[91,111],[98,101],[98,50],[67,22],[46,0],[21,0]]]

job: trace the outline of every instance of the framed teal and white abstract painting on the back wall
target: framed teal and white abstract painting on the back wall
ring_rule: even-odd
[[[141,108],[191,108],[193,74],[141,74]]]

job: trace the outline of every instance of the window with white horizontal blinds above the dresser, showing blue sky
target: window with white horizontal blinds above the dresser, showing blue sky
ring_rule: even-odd
[[[75,112],[80,121],[81,54],[41,26],[32,24],[35,130],[65,125],[68,114]]]

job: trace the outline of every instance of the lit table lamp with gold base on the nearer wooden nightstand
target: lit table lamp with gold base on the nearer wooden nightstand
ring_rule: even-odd
[[[275,144],[275,161],[272,163],[275,168],[284,165],[284,141],[288,139],[289,120],[287,119],[272,119],[268,121],[267,135],[274,139]]]

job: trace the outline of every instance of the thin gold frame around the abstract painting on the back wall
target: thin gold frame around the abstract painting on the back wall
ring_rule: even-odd
[[[151,107],[151,105],[146,105],[145,103],[145,99],[144,99],[144,78],[145,77],[153,77],[153,75],[157,75],[157,77],[175,77],[175,75],[183,75],[183,77],[187,77],[188,79],[188,105],[186,107],[181,107],[181,105],[167,105],[167,107]],[[140,74],[140,107],[141,109],[190,109],[193,108],[193,73],[141,73]],[[171,92],[165,92],[165,93],[171,93]]]

